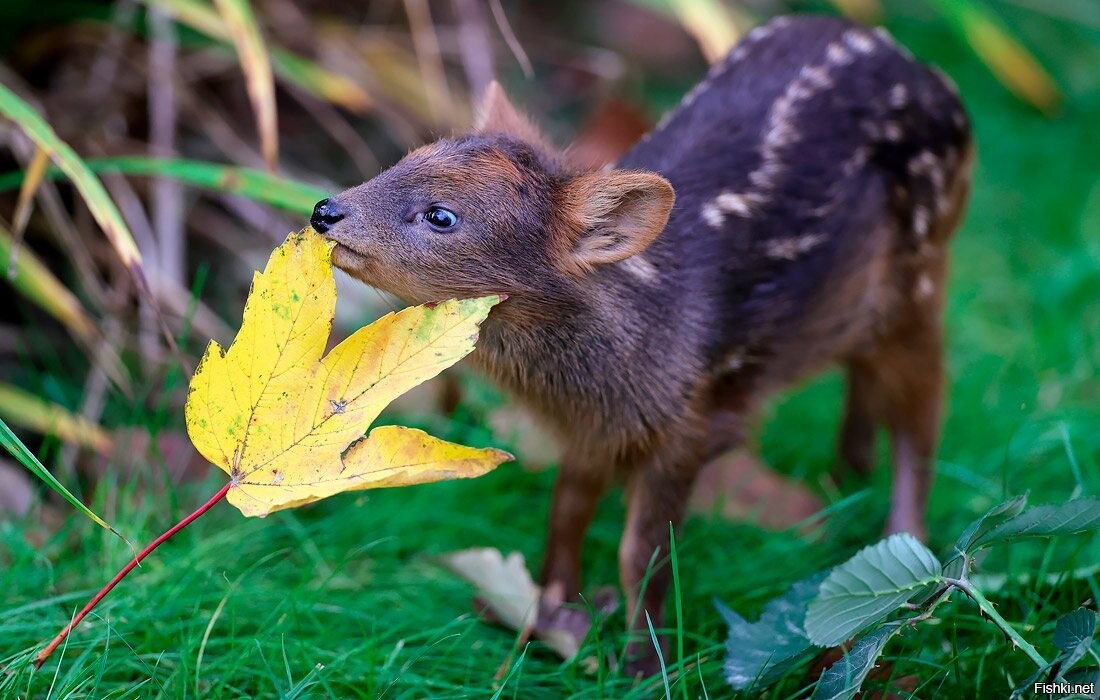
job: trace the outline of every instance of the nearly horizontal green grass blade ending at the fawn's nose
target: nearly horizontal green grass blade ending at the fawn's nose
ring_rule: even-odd
[[[89,158],[85,161],[85,164],[94,173],[172,177],[188,185],[221,194],[241,195],[301,216],[309,216],[317,200],[331,194],[321,187],[255,168],[205,161],[123,156]],[[46,177],[50,178],[56,178],[61,175],[62,173],[57,168],[46,171]],[[23,172],[0,175],[0,192],[14,189],[23,177]]]

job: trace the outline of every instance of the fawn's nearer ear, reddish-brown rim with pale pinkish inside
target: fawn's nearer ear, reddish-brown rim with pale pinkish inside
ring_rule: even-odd
[[[669,181],[646,171],[574,178],[561,201],[572,233],[565,262],[586,270],[640,253],[664,230],[674,200]]]

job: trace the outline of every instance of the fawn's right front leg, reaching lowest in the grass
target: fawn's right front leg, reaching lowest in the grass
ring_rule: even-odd
[[[627,484],[627,516],[619,544],[619,578],[627,598],[626,670],[651,676],[660,670],[657,648],[646,615],[653,628],[664,626],[664,604],[671,570],[668,566],[669,528],[684,517],[697,462],[681,462],[681,469],[651,464],[635,473]],[[669,661],[664,637],[658,637]]]

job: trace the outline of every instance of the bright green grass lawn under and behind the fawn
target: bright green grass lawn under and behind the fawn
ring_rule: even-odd
[[[942,28],[919,20],[897,28],[957,79],[979,143],[970,215],[953,245],[952,382],[930,516],[937,550],[1004,495],[1030,491],[1042,503],[1100,493],[1100,37],[1021,17],[1025,40],[1058,50],[1040,52],[1067,88],[1053,120],[1009,96]],[[72,400],[74,390],[51,379],[64,374],[63,359],[42,363],[31,378],[40,394]],[[760,430],[766,459],[817,488],[833,464],[839,401],[829,375],[773,404]],[[431,427],[484,444],[475,403]],[[118,417],[134,415],[131,407]],[[178,427],[178,416],[166,415]],[[163,425],[163,415],[144,419]],[[157,469],[155,458],[148,468]],[[608,655],[624,646],[622,613],[582,653],[603,661],[597,672],[532,644],[494,681],[515,635],[479,621],[469,587],[432,556],[495,546],[522,551],[537,569],[551,482],[552,473],[513,464],[472,482],[345,495],[264,521],[220,506],[151,557],[38,672],[29,659],[40,644],[130,553],[76,515],[41,546],[26,538],[41,529],[33,522],[0,524],[0,697],[663,697],[660,676],[636,683],[608,669]],[[108,480],[90,505],[145,542],[219,485],[211,475],[165,495]],[[869,484],[846,484],[837,497],[850,497],[812,536],[691,519],[676,540],[680,598],[670,611],[682,608],[683,616],[668,622],[671,696],[729,694],[713,598],[751,615],[793,580],[873,542],[888,485],[887,470]],[[585,551],[592,587],[616,578],[622,518],[620,499],[609,496]],[[1048,653],[1059,613],[1100,600],[1100,586],[1094,572],[1045,575],[1098,560],[1097,537],[1014,545],[985,562],[985,571],[1005,575],[987,593]],[[887,648],[894,679],[916,677],[915,696],[1004,697],[1031,675],[972,605],[956,599],[937,619]],[[792,674],[767,697],[788,697],[803,682]]]

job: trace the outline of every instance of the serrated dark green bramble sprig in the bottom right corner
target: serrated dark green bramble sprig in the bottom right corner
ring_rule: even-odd
[[[1065,681],[1092,646],[1096,612],[1079,609],[1059,620],[1055,644],[1062,653],[1047,660],[993,608],[972,575],[978,556],[994,545],[1100,529],[1100,500],[1026,505],[1027,497],[1018,496],[987,511],[959,535],[946,565],[911,535],[893,535],[827,573],[794,583],[769,602],[755,623],[717,603],[729,625],[726,679],[736,690],[760,691],[821,648],[855,639],[822,674],[813,692],[814,700],[850,700],[891,638],[930,620],[954,591],[961,591],[1037,667],[1015,694],[1030,691],[1043,677]],[[884,622],[899,612],[900,619]]]

